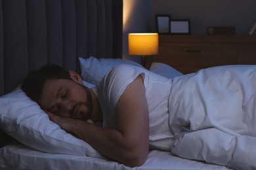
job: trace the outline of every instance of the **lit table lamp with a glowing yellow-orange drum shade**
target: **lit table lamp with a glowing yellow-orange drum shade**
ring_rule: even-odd
[[[129,55],[142,56],[145,67],[145,56],[158,54],[158,33],[129,33]]]

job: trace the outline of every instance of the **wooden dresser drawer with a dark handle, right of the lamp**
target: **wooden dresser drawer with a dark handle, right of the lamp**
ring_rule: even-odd
[[[236,63],[236,44],[225,43],[161,43],[160,58],[173,66],[211,67]]]

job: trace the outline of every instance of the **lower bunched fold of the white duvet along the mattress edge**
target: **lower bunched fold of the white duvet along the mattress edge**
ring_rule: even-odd
[[[184,133],[173,142],[171,152],[182,158],[201,160],[234,169],[256,168],[256,137],[233,136],[215,128]]]

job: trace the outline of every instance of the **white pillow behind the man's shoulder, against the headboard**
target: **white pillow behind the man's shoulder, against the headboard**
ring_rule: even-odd
[[[139,63],[128,59],[112,59],[112,58],[94,58],[90,57],[87,59],[79,58],[81,67],[81,77],[83,80],[90,82],[91,84],[97,84],[108,71],[119,64],[135,65],[142,67]]]

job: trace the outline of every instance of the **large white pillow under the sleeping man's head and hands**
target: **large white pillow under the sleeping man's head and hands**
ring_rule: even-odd
[[[0,97],[0,127],[20,143],[35,150],[104,158],[85,141],[51,122],[39,105],[20,88]]]

